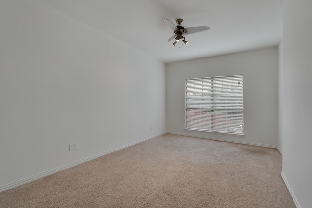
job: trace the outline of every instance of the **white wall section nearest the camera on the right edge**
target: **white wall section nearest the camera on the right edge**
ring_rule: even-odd
[[[283,172],[298,207],[312,206],[312,1],[283,14]]]

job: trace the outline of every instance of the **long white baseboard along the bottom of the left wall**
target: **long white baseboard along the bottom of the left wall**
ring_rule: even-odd
[[[78,160],[78,161],[76,161],[76,162],[72,162],[72,163],[69,163],[69,164],[60,166],[60,167],[58,167],[58,168],[54,168],[54,169],[51,169],[51,170],[47,170],[47,171],[44,171],[44,172],[41,172],[41,173],[32,175],[32,176],[30,176],[30,177],[26,177],[26,178],[24,178],[24,179],[15,181],[15,182],[13,182],[13,183],[9,183],[9,184],[7,184],[7,185],[1,186],[1,187],[0,187],[0,192],[3,192],[3,191],[5,191],[5,190],[18,187],[18,186],[20,186],[20,185],[29,183],[29,182],[31,182],[31,181],[35,181],[35,180],[37,180],[37,179],[39,179],[39,178],[43,178],[43,177],[45,177],[45,176],[51,175],[51,174],[56,173],[56,172],[59,172],[59,171],[61,171],[61,170],[65,170],[65,169],[68,169],[68,168],[77,166],[77,165],[79,165],[79,164],[81,164],[81,163],[87,162],[87,161],[89,161],[89,160],[93,160],[93,159],[95,159],[95,158],[97,158],[97,157],[103,156],[103,155],[105,155],[105,154],[112,153],[112,152],[114,152],[114,151],[118,151],[118,150],[124,149],[124,148],[126,148],[126,147],[130,147],[130,146],[132,146],[132,145],[138,144],[138,143],[140,143],[140,142],[144,142],[144,141],[146,141],[146,140],[155,138],[155,137],[160,136],[160,135],[163,135],[163,134],[165,134],[165,133],[166,133],[166,132],[162,132],[162,133],[159,133],[159,134],[150,136],[150,137],[146,137],[146,138],[140,139],[140,140],[138,140],[138,141],[136,141],[136,142],[132,142],[132,143],[130,143],[130,144],[123,145],[123,146],[114,148],[114,149],[112,149],[112,150],[104,151],[104,152],[101,152],[101,153],[92,155],[92,156],[90,156],[90,157],[83,158],[83,159]]]

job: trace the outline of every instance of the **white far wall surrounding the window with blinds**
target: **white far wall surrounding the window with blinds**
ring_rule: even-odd
[[[185,130],[185,79],[239,74],[244,75],[245,136]],[[277,147],[277,81],[277,47],[167,64],[167,132]]]

